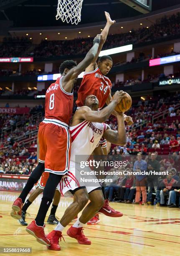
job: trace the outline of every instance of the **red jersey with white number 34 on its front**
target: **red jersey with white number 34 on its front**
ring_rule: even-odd
[[[99,100],[99,108],[102,108],[111,92],[112,83],[108,77],[101,74],[99,68],[93,72],[84,74],[81,86],[78,90],[78,107],[84,106],[84,101],[88,95],[95,95]]]

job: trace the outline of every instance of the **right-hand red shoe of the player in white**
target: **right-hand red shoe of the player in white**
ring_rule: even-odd
[[[86,236],[84,236],[83,228],[73,228],[71,226],[71,228],[67,230],[67,234],[68,236],[75,238],[78,243],[91,244],[91,241]]]

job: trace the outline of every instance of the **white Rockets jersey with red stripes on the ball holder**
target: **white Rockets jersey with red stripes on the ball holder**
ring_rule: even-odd
[[[86,120],[78,125],[71,126],[69,128],[72,140],[70,161],[75,162],[76,159],[77,162],[76,155],[91,155],[107,127],[108,125],[105,123],[93,123]],[[87,159],[83,160],[86,161]]]

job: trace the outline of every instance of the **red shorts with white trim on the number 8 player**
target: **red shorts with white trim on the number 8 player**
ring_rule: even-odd
[[[62,127],[64,123],[50,120],[55,119],[45,119],[39,125],[39,162],[45,163],[45,172],[63,175],[69,169],[71,135],[68,126]]]

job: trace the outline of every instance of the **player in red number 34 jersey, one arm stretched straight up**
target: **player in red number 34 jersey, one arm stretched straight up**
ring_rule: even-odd
[[[98,63],[96,63],[97,58],[99,56],[99,53],[106,41],[107,35],[109,33],[109,28],[115,23],[115,20],[112,20],[109,13],[105,12],[106,15],[106,26],[104,27],[103,31],[101,32],[101,42],[99,45],[98,52],[91,62],[91,64],[86,68],[84,77],[81,82],[81,86],[78,90],[78,99],[76,100],[76,104],[78,107],[81,107],[84,105],[84,100],[86,99],[87,95],[95,95],[99,100],[99,108],[103,108],[105,103],[109,104],[109,102],[112,100],[111,96],[111,88],[112,83],[108,77],[106,77],[106,74],[109,73],[109,71],[112,68],[112,58],[110,56],[102,56],[100,57]],[[115,111],[114,111],[115,113]],[[132,118],[124,116],[125,121],[127,121],[127,124],[132,124]],[[102,142],[104,143],[104,142]],[[107,150],[104,148],[103,151],[101,150],[101,141],[100,145],[96,150],[94,151],[94,155],[102,155],[104,152],[108,154]],[[104,206],[100,210],[100,212],[108,215],[109,217],[119,217],[121,216],[121,212],[117,212],[116,210],[112,209],[109,206],[109,201],[106,200],[105,192],[104,192],[104,186],[102,184],[102,192],[104,195]],[[95,218],[90,220],[88,224],[96,224],[99,223],[99,215],[97,214]]]

